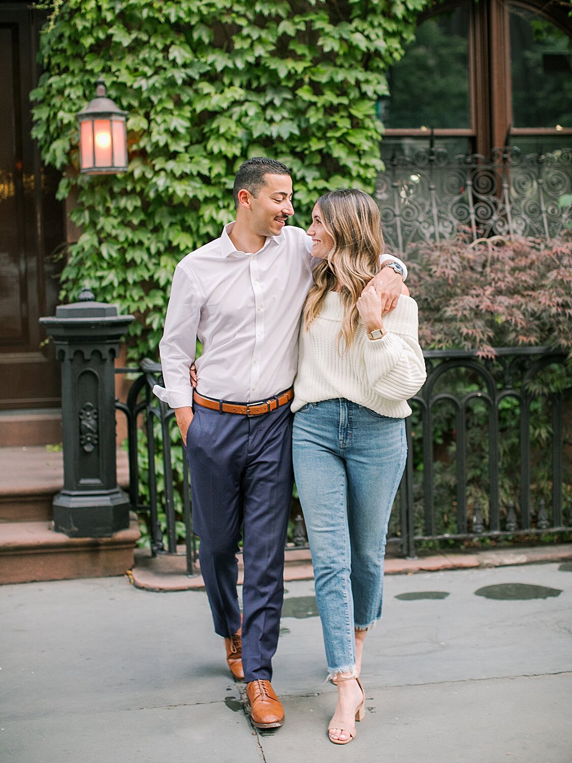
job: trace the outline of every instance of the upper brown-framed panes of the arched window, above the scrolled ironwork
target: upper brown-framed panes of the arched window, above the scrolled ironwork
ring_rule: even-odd
[[[435,6],[419,19],[416,40],[389,73],[390,95],[378,103],[384,154],[423,143],[431,130],[449,150],[484,155],[507,134],[525,151],[570,144],[570,35],[555,4]]]

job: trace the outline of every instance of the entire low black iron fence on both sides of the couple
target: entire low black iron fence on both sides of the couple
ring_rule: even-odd
[[[565,356],[545,347],[498,349],[494,359],[462,350],[424,355],[428,376],[410,401],[409,455],[388,542],[414,556],[421,543],[572,530]],[[185,553],[193,574],[188,464],[174,411],[151,391],[161,367],[146,359],[116,372],[134,377],[127,400],[116,403],[127,417],[131,504],[153,555]],[[291,545],[306,545],[301,515],[292,530]]]

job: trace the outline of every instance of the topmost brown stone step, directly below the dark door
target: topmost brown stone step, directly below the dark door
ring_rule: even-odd
[[[0,410],[0,447],[61,442],[62,411],[59,408]]]

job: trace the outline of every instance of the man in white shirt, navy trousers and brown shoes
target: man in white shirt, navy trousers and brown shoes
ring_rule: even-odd
[[[185,442],[215,631],[225,639],[233,676],[246,681],[252,723],[274,728],[284,723],[270,681],[293,482],[290,402],[312,241],[286,225],[294,208],[283,164],[246,161],[234,198],[236,222],[175,269],[160,343],[165,388],[153,391],[175,408]],[[387,255],[382,263],[397,263],[374,279],[387,310],[397,304],[404,266]],[[197,337],[204,349],[193,391]],[[241,526],[243,620],[236,593]]]

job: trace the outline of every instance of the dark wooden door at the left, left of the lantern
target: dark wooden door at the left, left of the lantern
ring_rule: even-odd
[[[60,403],[59,367],[38,324],[57,303],[64,240],[57,177],[30,135],[42,21],[31,5],[0,4],[0,409]]]

